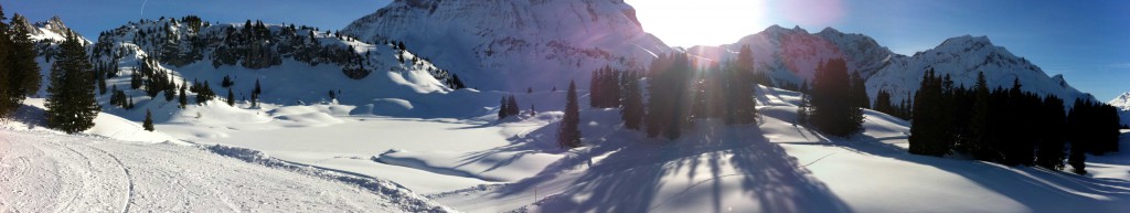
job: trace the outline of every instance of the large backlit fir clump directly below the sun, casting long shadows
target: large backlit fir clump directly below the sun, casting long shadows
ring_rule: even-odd
[[[760,71],[755,69],[748,46],[742,46],[733,61],[711,65],[705,70],[695,65],[683,53],[663,56],[652,62],[647,74],[646,113],[642,119],[649,137],[678,138],[697,119],[722,119],[728,125],[756,122],[754,92]],[[624,82],[637,84],[634,79]],[[642,96],[635,88],[628,88],[626,97]],[[626,102],[634,102],[632,99]],[[635,108],[635,103],[625,109],[631,109],[628,107]]]

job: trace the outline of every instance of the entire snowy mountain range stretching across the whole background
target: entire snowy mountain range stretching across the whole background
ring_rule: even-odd
[[[58,39],[66,28],[58,17],[25,26],[34,26],[33,37],[40,40]],[[262,35],[247,34],[253,31]],[[683,49],[644,32],[635,9],[621,0],[397,0],[340,32],[251,20],[130,22],[103,33],[93,52],[123,67],[153,56],[181,79],[219,82],[245,75],[243,82],[264,79],[275,91],[305,94],[272,100],[280,103],[323,100],[324,91],[342,90],[363,95],[340,100],[368,104],[374,99],[449,93],[453,76],[483,91],[564,88],[571,80],[584,88],[600,67],[643,69],[670,52],[686,52],[702,62],[725,61],[742,45],[753,49],[755,65],[779,84],[810,82],[818,63],[843,58],[851,71],[867,79],[871,97],[887,91],[895,102],[912,96],[928,69],[949,75],[960,86],[972,86],[983,71],[990,87],[1010,87],[1018,79],[1027,92],[1095,100],[1063,76],[1048,76],[985,36],[951,37],[903,56],[863,34],[774,25],[732,44]],[[311,79],[319,80],[302,84]],[[279,84],[288,80],[294,82],[287,83],[290,87]],[[247,91],[249,85],[241,82],[236,90]]]

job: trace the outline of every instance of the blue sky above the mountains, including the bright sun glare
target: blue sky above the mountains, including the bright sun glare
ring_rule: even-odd
[[[1130,91],[1130,1],[1024,0],[626,0],[644,28],[671,45],[721,44],[770,25],[862,33],[902,54],[959,35],[988,35],[1049,75],[1107,101]],[[84,35],[139,18],[295,23],[337,29],[390,0],[0,0],[6,14],[59,15]],[[142,16],[141,6],[145,5]],[[673,19],[672,17],[677,17]],[[92,37],[93,39],[93,37]]]

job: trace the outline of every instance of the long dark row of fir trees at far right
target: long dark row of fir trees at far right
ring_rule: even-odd
[[[1006,165],[1063,169],[1068,161],[1085,173],[1084,153],[1116,151],[1119,118],[1113,107],[1076,101],[1064,112],[1063,100],[1010,88],[990,90],[983,73],[972,88],[955,86],[948,75],[932,69],[914,95],[910,148],[913,154],[942,156],[954,152]],[[1107,144],[1105,148],[1094,145]],[[1111,147],[1109,144],[1114,144]]]

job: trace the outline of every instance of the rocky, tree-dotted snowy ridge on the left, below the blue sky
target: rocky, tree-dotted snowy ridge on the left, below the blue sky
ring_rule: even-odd
[[[59,18],[44,24],[25,24],[36,27],[38,59],[46,78],[55,43],[66,26]],[[391,43],[370,44],[353,37],[316,31],[314,27],[246,24],[210,24],[195,17],[164,18],[130,22],[103,32],[97,42],[88,45],[95,66],[116,66],[110,74],[107,88],[116,88],[131,96],[142,110],[124,110],[108,104],[112,92],[99,94],[106,112],[140,120],[144,109],[154,110],[155,120],[165,121],[180,116],[192,117],[198,110],[177,109],[174,101],[162,99],[163,93],[149,96],[145,86],[133,90],[130,79],[144,69],[166,74],[168,83],[176,86],[192,82],[208,82],[221,100],[228,88],[220,85],[225,77],[234,83],[231,91],[236,100],[232,109],[207,107],[214,111],[240,111],[250,108],[251,92],[261,84],[261,103],[292,105],[332,102],[355,105],[351,113],[386,116],[468,114],[483,111],[478,104],[452,108],[447,111],[424,110],[442,108],[445,94],[455,92],[449,85],[453,76],[416,53],[401,50]],[[62,31],[52,31],[60,29]],[[313,36],[313,37],[312,37]],[[146,62],[146,59],[155,62]],[[151,75],[140,75],[154,78]],[[158,75],[160,76],[160,75]],[[44,82],[46,85],[46,82]],[[38,96],[45,96],[41,88]],[[331,99],[333,93],[336,99]],[[194,100],[190,92],[188,99]],[[172,103],[172,104],[171,104]],[[194,102],[193,102],[194,103]],[[449,107],[450,108],[450,107]],[[203,110],[203,109],[200,109]],[[415,110],[415,111],[414,111]],[[253,111],[246,113],[255,114]]]

